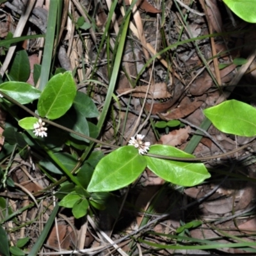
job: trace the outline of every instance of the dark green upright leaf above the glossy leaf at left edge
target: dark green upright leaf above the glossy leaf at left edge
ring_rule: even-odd
[[[9,70],[13,81],[26,82],[30,74],[28,53],[25,50],[16,52]]]

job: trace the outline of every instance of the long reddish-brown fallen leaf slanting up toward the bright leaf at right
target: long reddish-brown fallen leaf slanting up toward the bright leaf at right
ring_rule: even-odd
[[[203,95],[202,97],[196,98],[195,101],[191,102],[190,104],[184,104],[179,108],[171,110],[168,113],[158,115],[163,120],[183,118],[184,116],[188,116],[189,114],[193,113],[196,109],[200,108],[200,106],[204,103],[205,99],[206,95]]]

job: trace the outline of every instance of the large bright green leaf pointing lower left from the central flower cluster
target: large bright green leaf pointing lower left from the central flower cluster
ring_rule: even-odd
[[[138,149],[133,146],[118,148],[99,161],[87,190],[103,192],[124,188],[139,177],[146,165]]]

